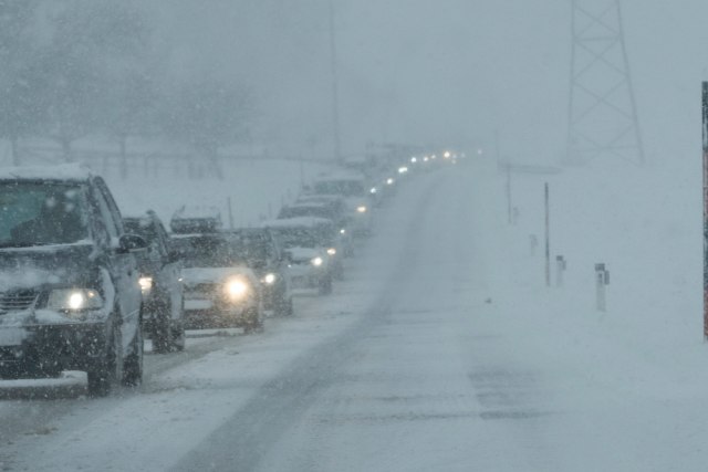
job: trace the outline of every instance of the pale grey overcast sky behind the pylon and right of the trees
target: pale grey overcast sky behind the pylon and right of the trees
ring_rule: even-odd
[[[565,145],[570,0],[333,0],[344,148],[368,139],[489,145],[552,161]],[[163,2],[160,2],[164,4]],[[160,14],[185,54],[217,54],[263,106],[264,139],[330,140],[326,0],[179,0]],[[624,0],[649,159],[700,147],[708,2]]]

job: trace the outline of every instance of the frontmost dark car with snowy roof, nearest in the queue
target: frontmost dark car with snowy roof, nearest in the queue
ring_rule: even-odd
[[[0,170],[0,376],[85,370],[107,395],[143,377],[134,251],[101,177],[80,166]]]

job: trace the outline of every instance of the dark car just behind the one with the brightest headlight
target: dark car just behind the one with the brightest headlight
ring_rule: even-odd
[[[243,255],[263,289],[263,308],[277,316],[293,314],[290,274],[284,251],[268,228],[229,231],[233,250]]]

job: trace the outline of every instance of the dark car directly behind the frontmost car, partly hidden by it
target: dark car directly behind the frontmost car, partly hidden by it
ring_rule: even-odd
[[[185,348],[185,300],[181,263],[171,251],[169,234],[157,213],[124,218],[126,230],[143,237],[147,251],[137,254],[143,291],[143,327],[153,340],[153,350],[168,353]]]

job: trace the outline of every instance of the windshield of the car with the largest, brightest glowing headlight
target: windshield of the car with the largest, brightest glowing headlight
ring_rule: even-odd
[[[175,238],[173,249],[185,268],[230,268],[246,264],[246,259],[233,250],[221,235]]]

